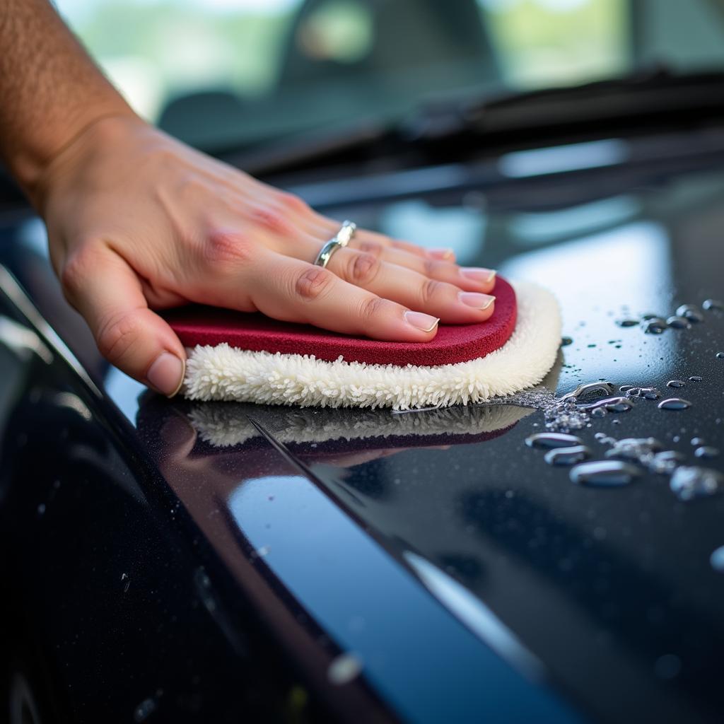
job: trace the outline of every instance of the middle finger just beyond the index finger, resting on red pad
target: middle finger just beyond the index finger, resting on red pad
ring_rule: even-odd
[[[337,250],[328,269],[351,285],[384,299],[436,316],[449,324],[489,319],[495,298],[426,277],[413,269],[387,264],[381,258],[350,248]]]

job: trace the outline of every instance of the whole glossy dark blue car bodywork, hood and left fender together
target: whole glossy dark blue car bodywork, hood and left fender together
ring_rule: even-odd
[[[654,434],[691,455],[694,434],[724,447],[724,319],[661,337],[614,321],[626,304],[673,313],[724,295],[717,138],[619,139],[615,163],[588,168],[581,148],[572,167],[551,156],[550,173],[511,176],[489,159],[484,181],[471,164],[400,169],[384,187],[287,185],[388,232],[437,224],[472,239],[458,250],[466,264],[554,288],[574,342],[552,389],[701,374],[686,413],[639,403],[584,431],[590,445],[597,429]],[[408,182],[395,201],[374,193]],[[466,435],[471,411],[420,413],[447,415],[444,432],[395,437],[389,411],[368,412],[355,437],[358,411],[295,421],[230,405],[222,418],[251,432],[214,447],[193,421],[218,405],[139,394],[98,359],[60,300],[37,222],[7,218],[1,241],[40,315],[23,313],[6,279],[7,665],[48,720],[719,720],[724,578],[708,556],[724,544],[721,499],[683,504],[654,476],[574,487],[523,445],[538,413],[481,437]],[[295,441],[295,425],[327,437]],[[361,674],[337,685],[329,666],[345,652]]]

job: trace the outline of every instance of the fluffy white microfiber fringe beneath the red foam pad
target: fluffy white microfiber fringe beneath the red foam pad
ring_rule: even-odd
[[[513,287],[515,331],[485,357],[434,367],[395,366],[250,352],[225,343],[197,345],[186,364],[182,394],[190,400],[394,410],[512,395],[537,384],[551,369],[561,329],[560,310],[549,291],[530,282]]]

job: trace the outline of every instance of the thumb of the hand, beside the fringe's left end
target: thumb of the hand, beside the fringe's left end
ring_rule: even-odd
[[[79,248],[61,271],[64,293],[104,357],[126,374],[172,397],[185,372],[185,351],[146,303],[135,272],[114,251]]]

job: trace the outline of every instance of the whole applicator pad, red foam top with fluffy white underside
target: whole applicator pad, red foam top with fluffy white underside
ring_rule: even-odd
[[[484,402],[543,379],[560,345],[555,298],[500,277],[493,293],[488,321],[440,325],[431,342],[379,342],[216,308],[182,308],[167,320],[189,348],[190,399],[399,410]]]

